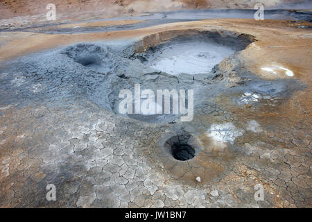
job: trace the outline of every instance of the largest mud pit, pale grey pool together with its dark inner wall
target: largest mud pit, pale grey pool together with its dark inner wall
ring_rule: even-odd
[[[250,43],[250,42],[249,42]],[[209,74],[224,58],[245,49],[244,41],[223,37],[219,33],[205,33],[192,37],[177,37],[164,44],[150,47],[137,55],[144,64],[171,75]]]

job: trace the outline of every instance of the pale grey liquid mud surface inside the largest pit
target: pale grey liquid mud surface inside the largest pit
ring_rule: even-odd
[[[207,74],[234,50],[221,44],[201,40],[173,42],[151,54],[150,67],[171,75]]]

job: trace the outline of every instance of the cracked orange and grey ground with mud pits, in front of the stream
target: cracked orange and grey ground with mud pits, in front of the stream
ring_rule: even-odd
[[[312,207],[311,11],[210,12],[2,28],[0,207]]]

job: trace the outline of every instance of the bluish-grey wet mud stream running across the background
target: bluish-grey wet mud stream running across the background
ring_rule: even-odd
[[[73,33],[96,33],[96,32],[108,32],[108,31],[120,31],[120,30],[133,30],[137,28],[146,28],[150,26],[156,26],[160,24],[170,24],[175,22],[191,22],[198,21],[200,19],[224,19],[224,18],[239,18],[239,19],[254,19],[254,13],[257,10],[232,10],[232,9],[206,9],[206,10],[177,10],[171,12],[155,12],[146,13],[144,16],[123,17],[119,19],[130,20],[143,20],[137,24],[125,24],[119,26],[97,26],[97,27],[80,27],[79,23],[73,28],[58,27],[64,24],[71,23],[59,23],[59,24],[42,24],[26,26],[24,28],[0,28],[0,31],[23,31],[33,33],[46,33],[46,34],[73,34]],[[119,19],[93,19],[87,22],[101,22],[101,21],[118,21]],[[275,10],[270,9],[265,11],[265,19],[288,19],[293,22],[296,20],[304,20],[306,22],[312,22],[312,12],[309,10]]]

